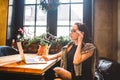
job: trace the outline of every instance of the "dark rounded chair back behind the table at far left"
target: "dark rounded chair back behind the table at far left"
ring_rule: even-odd
[[[0,56],[13,55],[18,53],[19,51],[17,49],[10,46],[0,46]]]

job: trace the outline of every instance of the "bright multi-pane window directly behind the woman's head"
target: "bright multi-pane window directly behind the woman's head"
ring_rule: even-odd
[[[57,36],[69,36],[75,22],[83,22],[83,0],[60,0],[58,7]]]

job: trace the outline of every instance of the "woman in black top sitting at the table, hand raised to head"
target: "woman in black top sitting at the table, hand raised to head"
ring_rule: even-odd
[[[54,71],[63,80],[93,80],[96,47],[89,38],[86,26],[75,23],[70,31],[70,39],[72,42],[63,47],[61,52],[43,58],[52,60],[61,56],[61,67],[54,68]]]

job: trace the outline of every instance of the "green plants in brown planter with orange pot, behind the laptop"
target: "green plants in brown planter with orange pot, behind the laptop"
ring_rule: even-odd
[[[45,54],[45,49],[49,49],[50,45],[56,40],[56,37],[47,33],[33,37],[23,41],[24,52],[37,53],[38,55]]]

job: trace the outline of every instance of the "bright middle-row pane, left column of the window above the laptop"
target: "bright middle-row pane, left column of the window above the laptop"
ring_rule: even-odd
[[[24,25],[35,25],[35,6],[25,6]]]

